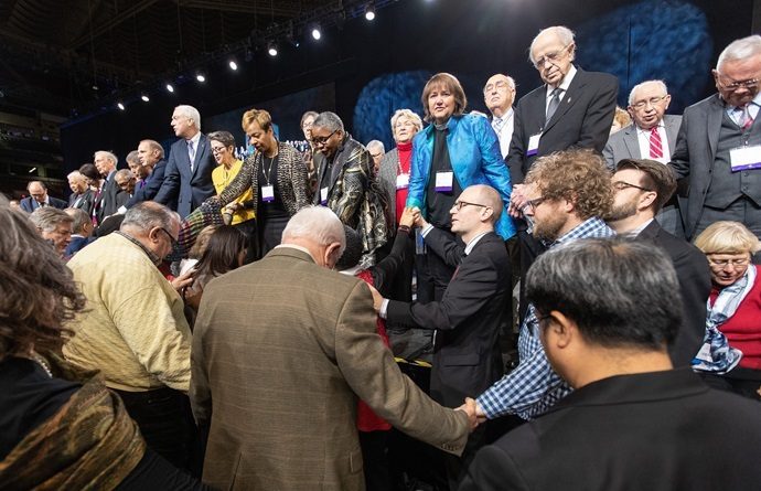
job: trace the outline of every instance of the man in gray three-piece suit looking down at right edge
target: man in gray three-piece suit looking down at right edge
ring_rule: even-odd
[[[761,35],[730,43],[714,79],[718,93],[685,109],[671,162],[689,179],[685,235],[731,220],[761,237]]]

